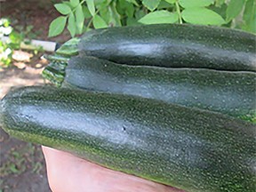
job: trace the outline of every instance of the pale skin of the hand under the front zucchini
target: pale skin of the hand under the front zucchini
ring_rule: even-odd
[[[52,192],[184,192],[42,147]]]

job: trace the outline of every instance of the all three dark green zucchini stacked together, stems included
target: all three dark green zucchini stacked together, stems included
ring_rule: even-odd
[[[235,29],[103,28],[0,104],[6,132],[191,192],[254,192],[256,40]]]

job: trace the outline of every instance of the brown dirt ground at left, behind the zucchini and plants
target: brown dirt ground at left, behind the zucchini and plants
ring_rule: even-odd
[[[0,1],[0,18],[12,20],[16,30],[24,31],[32,26],[28,35],[35,39],[63,43],[70,38],[67,31],[63,35],[48,38],[50,22],[58,16],[53,4],[58,0],[5,0]],[[47,64],[41,60],[42,52],[17,52],[29,55],[28,61],[14,61],[10,68],[0,68],[0,99],[12,87],[43,85],[41,72]],[[9,137],[0,128],[0,192],[50,192],[44,156],[40,146]]]

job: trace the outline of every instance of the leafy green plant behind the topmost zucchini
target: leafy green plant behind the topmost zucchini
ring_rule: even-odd
[[[92,28],[153,23],[191,23],[256,33],[255,0],[69,0],[54,4],[60,16],[49,28],[72,37]]]

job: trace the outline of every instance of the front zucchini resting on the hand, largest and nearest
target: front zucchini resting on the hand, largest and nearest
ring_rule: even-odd
[[[25,87],[1,101],[6,132],[191,192],[254,192],[256,127],[158,100]]]

